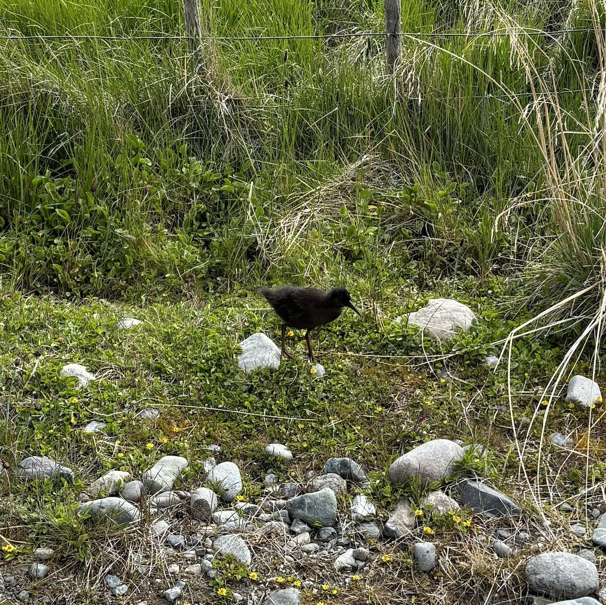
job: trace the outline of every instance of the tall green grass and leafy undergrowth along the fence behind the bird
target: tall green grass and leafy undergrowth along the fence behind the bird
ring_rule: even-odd
[[[0,52],[2,270],[20,287],[108,295],[148,289],[151,278],[182,289],[210,266],[230,284],[272,271],[359,279],[364,267],[376,280],[376,262],[351,252],[361,239],[387,271],[386,250],[406,262],[420,246],[435,260],[427,236],[447,264],[481,278],[515,266],[558,216],[548,183],[561,153],[545,155],[545,107],[588,125],[594,101],[584,91],[599,67],[599,33],[524,30],[591,27],[592,7],[405,0],[402,30],[419,35],[403,37],[391,79],[381,37],[228,39],[381,32],[380,2],[205,0],[193,65],[180,2],[0,0],[2,33],[18,38]],[[488,32],[499,35],[473,35]],[[20,37],[38,35],[132,39]],[[580,158],[588,130],[569,130],[567,153]],[[173,153],[181,159],[167,166]],[[185,167],[191,156],[230,182],[217,176],[201,191]],[[59,184],[52,220],[36,180],[47,171]],[[76,175],[65,199],[53,179]],[[213,187],[240,179],[252,183],[247,195],[215,209]],[[527,194],[545,187],[528,206]],[[87,204],[102,209],[96,218]],[[370,233],[367,206],[379,207]],[[171,218],[177,208],[190,222]]]

